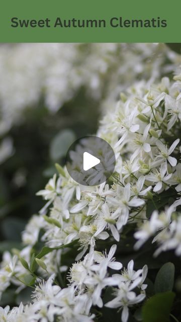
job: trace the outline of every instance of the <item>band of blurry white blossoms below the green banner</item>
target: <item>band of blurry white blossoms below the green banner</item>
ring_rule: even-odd
[[[0,137],[43,101],[52,113],[81,88],[110,109],[120,92],[144,78],[148,84],[175,68],[179,55],[164,44],[3,44],[0,51]],[[2,163],[13,147],[0,144]],[[11,143],[12,144],[12,143]]]

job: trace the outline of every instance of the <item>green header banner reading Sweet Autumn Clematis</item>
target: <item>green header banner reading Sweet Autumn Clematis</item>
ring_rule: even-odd
[[[180,0],[2,0],[1,42],[180,42]]]

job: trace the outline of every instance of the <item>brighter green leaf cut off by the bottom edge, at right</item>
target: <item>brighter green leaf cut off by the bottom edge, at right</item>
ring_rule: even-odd
[[[142,308],[143,322],[168,322],[174,297],[170,291],[150,297]]]

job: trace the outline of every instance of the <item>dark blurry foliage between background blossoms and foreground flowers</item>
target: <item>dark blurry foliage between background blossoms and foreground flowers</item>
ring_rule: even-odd
[[[1,165],[0,172],[1,240],[21,241],[28,218],[44,204],[35,193],[55,173],[54,164],[64,164],[71,143],[96,132],[99,114],[96,102],[87,101],[80,90],[56,115],[49,114],[41,102],[37,109],[26,110],[23,124],[11,128],[14,153]],[[7,248],[7,244],[2,246],[0,251]]]

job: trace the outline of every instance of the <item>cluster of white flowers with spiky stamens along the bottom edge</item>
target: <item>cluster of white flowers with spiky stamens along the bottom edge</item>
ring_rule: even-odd
[[[134,271],[131,260],[128,268],[121,271],[121,274],[113,274],[109,277],[108,268],[118,271],[122,269],[122,264],[115,262],[113,257],[115,252],[116,245],[111,247],[108,255],[106,252],[97,252],[92,248],[83,261],[74,263],[70,268],[67,287],[61,288],[57,285],[55,274],[53,274],[47,281],[42,280],[35,286],[30,305],[24,306],[21,303],[19,307],[14,307],[12,310],[10,310],[10,306],[6,306],[4,309],[0,308],[0,320],[53,322],[56,316],[57,321],[93,322],[95,314],[91,313],[92,306],[103,307],[103,290],[107,286],[117,286],[117,289],[113,289],[115,299],[106,303],[106,306],[123,309],[122,321],[126,322],[129,315],[128,307],[145,298],[144,290],[147,285],[143,283],[147,275],[147,266]],[[16,258],[14,257],[13,264],[9,264],[6,268],[9,273],[8,277],[16,276],[16,271],[21,271],[20,268],[19,270],[16,268],[15,271],[15,262]],[[45,268],[45,264],[42,263],[40,261],[42,267]],[[15,281],[12,280],[12,282]],[[8,286],[2,285],[4,288]],[[137,289],[137,293],[140,293],[139,295],[135,293],[135,289]]]

